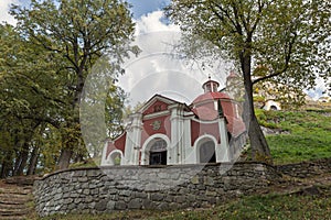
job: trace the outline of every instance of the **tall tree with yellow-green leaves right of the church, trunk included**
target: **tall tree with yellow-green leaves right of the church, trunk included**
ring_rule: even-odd
[[[302,89],[316,76],[330,77],[330,9],[324,0],[173,0],[166,8],[183,32],[188,56],[221,55],[241,70],[256,160],[270,151],[255,117],[253,86],[273,79]]]

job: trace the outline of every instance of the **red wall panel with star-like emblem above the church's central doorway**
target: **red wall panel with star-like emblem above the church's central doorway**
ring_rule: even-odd
[[[170,116],[163,116],[154,119],[145,120],[142,123],[143,130],[141,132],[141,146],[149,136],[157,133],[164,134],[169,139],[171,139]],[[160,123],[160,125],[158,125],[158,123]]]

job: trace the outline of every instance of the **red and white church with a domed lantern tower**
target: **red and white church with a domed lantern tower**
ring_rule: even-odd
[[[245,143],[242,107],[209,78],[191,105],[154,95],[106,141],[102,166],[232,162]]]

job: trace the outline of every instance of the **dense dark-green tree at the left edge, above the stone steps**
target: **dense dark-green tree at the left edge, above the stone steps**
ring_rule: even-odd
[[[21,37],[11,25],[0,25],[0,163],[6,177],[22,175],[26,166],[34,173],[41,147],[35,140],[45,124],[58,127],[63,91],[56,87],[52,53]]]

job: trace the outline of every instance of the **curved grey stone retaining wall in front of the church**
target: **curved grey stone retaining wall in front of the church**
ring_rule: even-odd
[[[195,208],[249,195],[279,177],[263,163],[76,168],[35,180],[34,198],[40,216]]]

